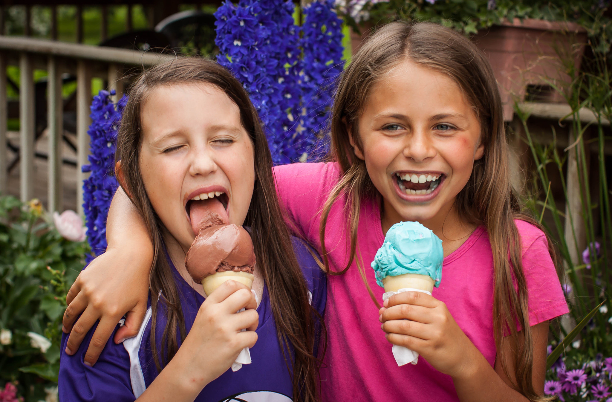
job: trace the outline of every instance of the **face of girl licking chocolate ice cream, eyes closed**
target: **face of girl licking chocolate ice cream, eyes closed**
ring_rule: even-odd
[[[140,171],[163,224],[185,248],[216,212],[242,225],[255,185],[238,106],[211,84],[155,87],[142,108]]]

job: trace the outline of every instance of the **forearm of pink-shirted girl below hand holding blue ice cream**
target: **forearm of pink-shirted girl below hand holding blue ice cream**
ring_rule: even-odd
[[[458,376],[453,377],[455,390],[462,402],[529,402],[521,393],[502,380],[487,359],[474,348],[472,359]],[[471,360],[470,363],[467,363]]]

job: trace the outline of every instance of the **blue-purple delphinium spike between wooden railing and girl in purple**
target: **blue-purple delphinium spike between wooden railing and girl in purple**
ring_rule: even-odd
[[[87,237],[94,255],[86,255],[86,262],[106,250],[106,217],[113,194],[119,186],[114,177],[114,154],[117,130],[127,97],[115,105],[111,95],[115,92],[100,91],[91,104],[90,137],[91,155],[89,165],[83,165],[84,172],[91,172],[83,181],[83,212],[85,214]]]

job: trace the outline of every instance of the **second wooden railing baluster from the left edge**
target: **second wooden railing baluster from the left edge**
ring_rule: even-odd
[[[29,201],[34,196],[34,70],[28,53],[20,54],[19,68],[20,197]]]

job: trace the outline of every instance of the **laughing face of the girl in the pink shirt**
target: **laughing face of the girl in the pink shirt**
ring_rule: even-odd
[[[457,83],[401,62],[372,87],[358,125],[355,154],[383,195],[383,226],[439,227],[484,152],[480,123]]]

